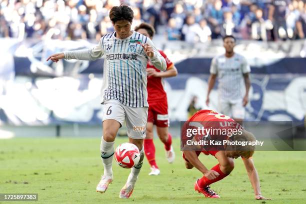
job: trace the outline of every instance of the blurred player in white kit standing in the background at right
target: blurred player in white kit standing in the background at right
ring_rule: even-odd
[[[206,105],[209,104],[209,93],[218,77],[218,111],[241,123],[248,102],[250,67],[245,57],[233,51],[235,41],[232,35],[223,37],[225,54],[215,56],[211,61]]]

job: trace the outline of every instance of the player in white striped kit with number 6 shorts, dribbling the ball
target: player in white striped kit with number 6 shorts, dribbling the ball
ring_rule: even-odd
[[[148,109],[147,60],[163,71],[166,69],[166,62],[149,37],[130,29],[133,19],[130,7],[123,4],[114,6],[109,11],[109,17],[115,31],[101,37],[95,47],[52,54],[47,60],[95,60],[105,56],[101,88],[104,104],[103,136],[100,146],[104,174],[96,186],[96,191],[105,192],[112,181],[114,139],[125,119],[129,142],[135,144],[140,151],[140,160],[131,168],[119,193],[120,198],[128,198],[133,191],[144,156],[142,143],[146,133]]]

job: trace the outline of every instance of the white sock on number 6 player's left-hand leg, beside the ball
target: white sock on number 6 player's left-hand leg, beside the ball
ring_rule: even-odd
[[[112,157],[114,154],[113,144],[114,141],[107,142],[103,139],[103,137],[101,138],[100,151],[101,151],[102,163],[104,166],[104,175],[108,175],[111,177],[112,177],[112,168],[111,168]]]

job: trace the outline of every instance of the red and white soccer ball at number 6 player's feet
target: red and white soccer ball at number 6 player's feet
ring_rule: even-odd
[[[135,144],[122,143],[116,148],[114,157],[122,168],[132,168],[139,162],[139,149]]]

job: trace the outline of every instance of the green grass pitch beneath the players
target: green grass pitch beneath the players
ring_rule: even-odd
[[[127,138],[118,137],[115,146],[125,141]],[[100,138],[2,139],[0,193],[38,193],[34,203],[306,203],[305,151],[255,152],[253,159],[261,192],[273,200],[254,200],[240,158],[229,176],[211,185],[221,198],[209,199],[194,191],[193,183],[201,174],[196,169],[184,168],[179,139],[173,139],[176,152],[173,164],[167,163],[158,139],[155,144],[160,175],[149,176],[144,160],[133,194],[122,200],[118,193],[129,169],[120,168],[114,161],[112,184],[103,194],[95,192],[103,172]],[[201,155],[200,159],[209,168],[217,162],[212,156]]]

